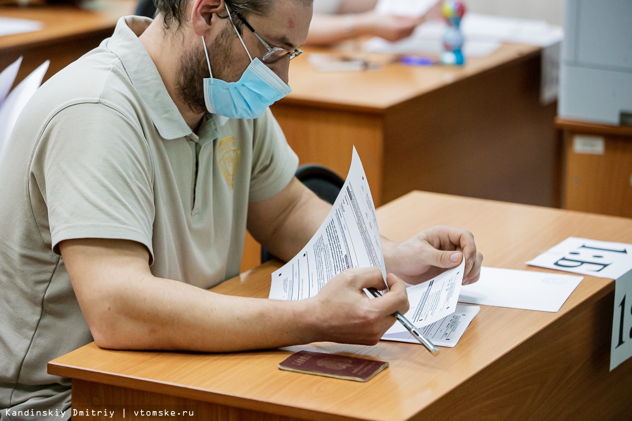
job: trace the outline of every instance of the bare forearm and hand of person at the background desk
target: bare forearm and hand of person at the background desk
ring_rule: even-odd
[[[388,41],[409,37],[417,25],[439,14],[438,2],[423,16],[379,15],[373,11],[375,0],[346,0],[341,3],[338,15],[315,13],[310,25],[306,45],[333,44],[362,36],[377,36]]]

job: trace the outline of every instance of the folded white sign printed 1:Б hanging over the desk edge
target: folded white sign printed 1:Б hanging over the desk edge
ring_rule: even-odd
[[[632,245],[569,237],[526,264],[615,280],[610,369],[632,357]]]

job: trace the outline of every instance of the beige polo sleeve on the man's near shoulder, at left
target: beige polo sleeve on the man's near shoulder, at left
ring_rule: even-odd
[[[154,260],[153,168],[147,141],[123,114],[100,103],[64,108],[46,126],[33,171],[59,242],[108,238],[142,243]]]

